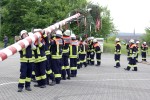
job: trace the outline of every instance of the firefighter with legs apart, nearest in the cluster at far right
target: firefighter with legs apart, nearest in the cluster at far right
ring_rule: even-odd
[[[136,64],[136,55],[137,55],[137,48],[136,48],[136,44],[134,43],[134,40],[131,39],[130,40],[130,49],[129,49],[129,63],[127,68],[124,68],[125,70],[129,71],[131,67],[133,67],[134,69],[132,71],[137,71],[137,64]]]

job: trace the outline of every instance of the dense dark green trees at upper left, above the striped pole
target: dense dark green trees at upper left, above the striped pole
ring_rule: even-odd
[[[3,0],[2,35],[12,37],[22,29],[45,28],[84,5],[86,0]]]

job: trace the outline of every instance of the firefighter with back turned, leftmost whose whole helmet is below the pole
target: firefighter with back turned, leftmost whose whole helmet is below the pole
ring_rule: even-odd
[[[56,84],[60,84],[61,81],[61,68],[62,68],[62,52],[63,52],[63,39],[62,31],[56,30],[55,36],[50,45],[51,45],[51,62],[52,70],[55,76]]]

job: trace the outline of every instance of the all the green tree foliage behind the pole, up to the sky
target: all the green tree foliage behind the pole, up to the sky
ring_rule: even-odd
[[[110,11],[106,7],[87,4],[86,0],[1,0],[0,3],[1,39],[6,34],[13,40],[23,29],[31,31],[32,28],[45,28],[78,12],[83,16],[68,23],[75,34],[104,37],[114,29]],[[92,10],[87,11],[88,8]],[[104,12],[103,16],[101,12]],[[102,19],[102,28],[95,32],[97,18]]]

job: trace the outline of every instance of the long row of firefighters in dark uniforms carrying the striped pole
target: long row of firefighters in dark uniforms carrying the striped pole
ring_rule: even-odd
[[[101,49],[94,37],[83,41],[71,30],[64,32],[56,30],[51,36],[42,29],[35,29],[34,33],[36,32],[42,37],[20,51],[18,92],[22,92],[24,87],[27,91],[31,91],[31,79],[37,83],[34,87],[40,88],[60,84],[61,79],[70,80],[70,77],[77,76],[77,69],[83,65],[85,67],[87,64],[94,65],[95,54],[97,66],[100,66]],[[21,39],[30,35],[33,33],[26,30],[20,32]]]

